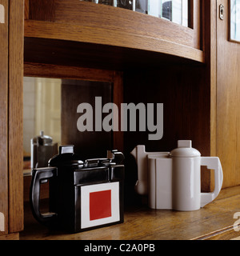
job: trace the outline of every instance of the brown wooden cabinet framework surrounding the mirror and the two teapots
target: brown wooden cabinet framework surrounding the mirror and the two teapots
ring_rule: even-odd
[[[220,2],[190,0],[190,27],[184,27],[78,0],[0,0],[5,11],[5,22],[0,23],[0,212],[5,216],[0,234],[16,234],[23,228],[22,67],[26,76],[109,82],[117,106],[123,102],[163,103],[161,140],[149,141],[147,132],[138,131],[120,130],[110,136],[111,146],[126,155],[130,194],[134,194],[137,179],[130,158],[134,146],[145,144],[148,151],[166,151],[175,148],[178,139],[191,139],[203,156],[220,157],[224,187],[240,184],[238,110],[234,105],[240,97],[238,75],[225,76],[226,68],[239,72],[227,53],[220,58],[222,51],[234,52],[233,47],[238,46],[226,42],[227,18],[218,20]],[[227,6],[226,0],[222,2]],[[237,55],[231,58],[237,62]],[[228,79],[233,79],[229,87]],[[63,97],[74,98],[67,87],[63,91]],[[65,104],[62,142],[72,143],[66,131],[77,121],[67,111]],[[211,171],[202,170],[202,191],[212,190],[213,180]]]

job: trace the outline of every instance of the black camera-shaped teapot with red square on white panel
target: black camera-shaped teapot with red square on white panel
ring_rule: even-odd
[[[34,218],[46,226],[71,233],[123,222],[124,156],[82,161],[74,146],[59,146],[49,167],[32,170],[30,206]],[[40,186],[49,182],[49,213],[40,213]]]

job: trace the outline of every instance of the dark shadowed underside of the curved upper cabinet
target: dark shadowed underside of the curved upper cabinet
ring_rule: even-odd
[[[105,70],[146,69],[174,64],[199,65],[204,59],[204,54],[200,50],[194,50],[196,57],[193,60],[186,58],[183,51],[184,57],[180,57],[149,50],[46,38],[25,38],[24,46],[25,63],[35,62]],[[202,61],[196,62],[197,58]]]

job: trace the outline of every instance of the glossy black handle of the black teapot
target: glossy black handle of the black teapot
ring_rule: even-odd
[[[30,206],[34,218],[42,224],[50,224],[57,217],[56,213],[41,214],[39,210],[40,186],[49,178],[57,176],[56,167],[36,168],[32,170],[32,179],[30,183]]]

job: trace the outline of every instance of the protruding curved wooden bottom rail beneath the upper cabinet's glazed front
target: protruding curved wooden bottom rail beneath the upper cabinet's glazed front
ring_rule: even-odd
[[[61,31],[61,33],[59,32]],[[103,34],[108,34],[107,38]],[[202,50],[170,42],[161,38],[152,38],[141,34],[114,31],[90,26],[74,25],[60,22],[25,21],[25,37],[61,39],[73,42],[94,43],[103,46],[126,47],[135,50],[147,50],[160,54],[188,58],[204,62]]]

